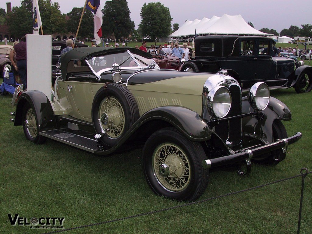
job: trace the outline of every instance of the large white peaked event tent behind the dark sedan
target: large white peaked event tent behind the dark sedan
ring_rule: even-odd
[[[187,20],[177,31],[173,32],[170,37],[177,39],[188,39],[197,36],[205,35],[240,35],[240,36],[272,36],[260,32],[251,27],[241,15],[227,15],[222,17],[213,16],[211,19],[204,17],[202,20],[195,19],[194,21]]]

